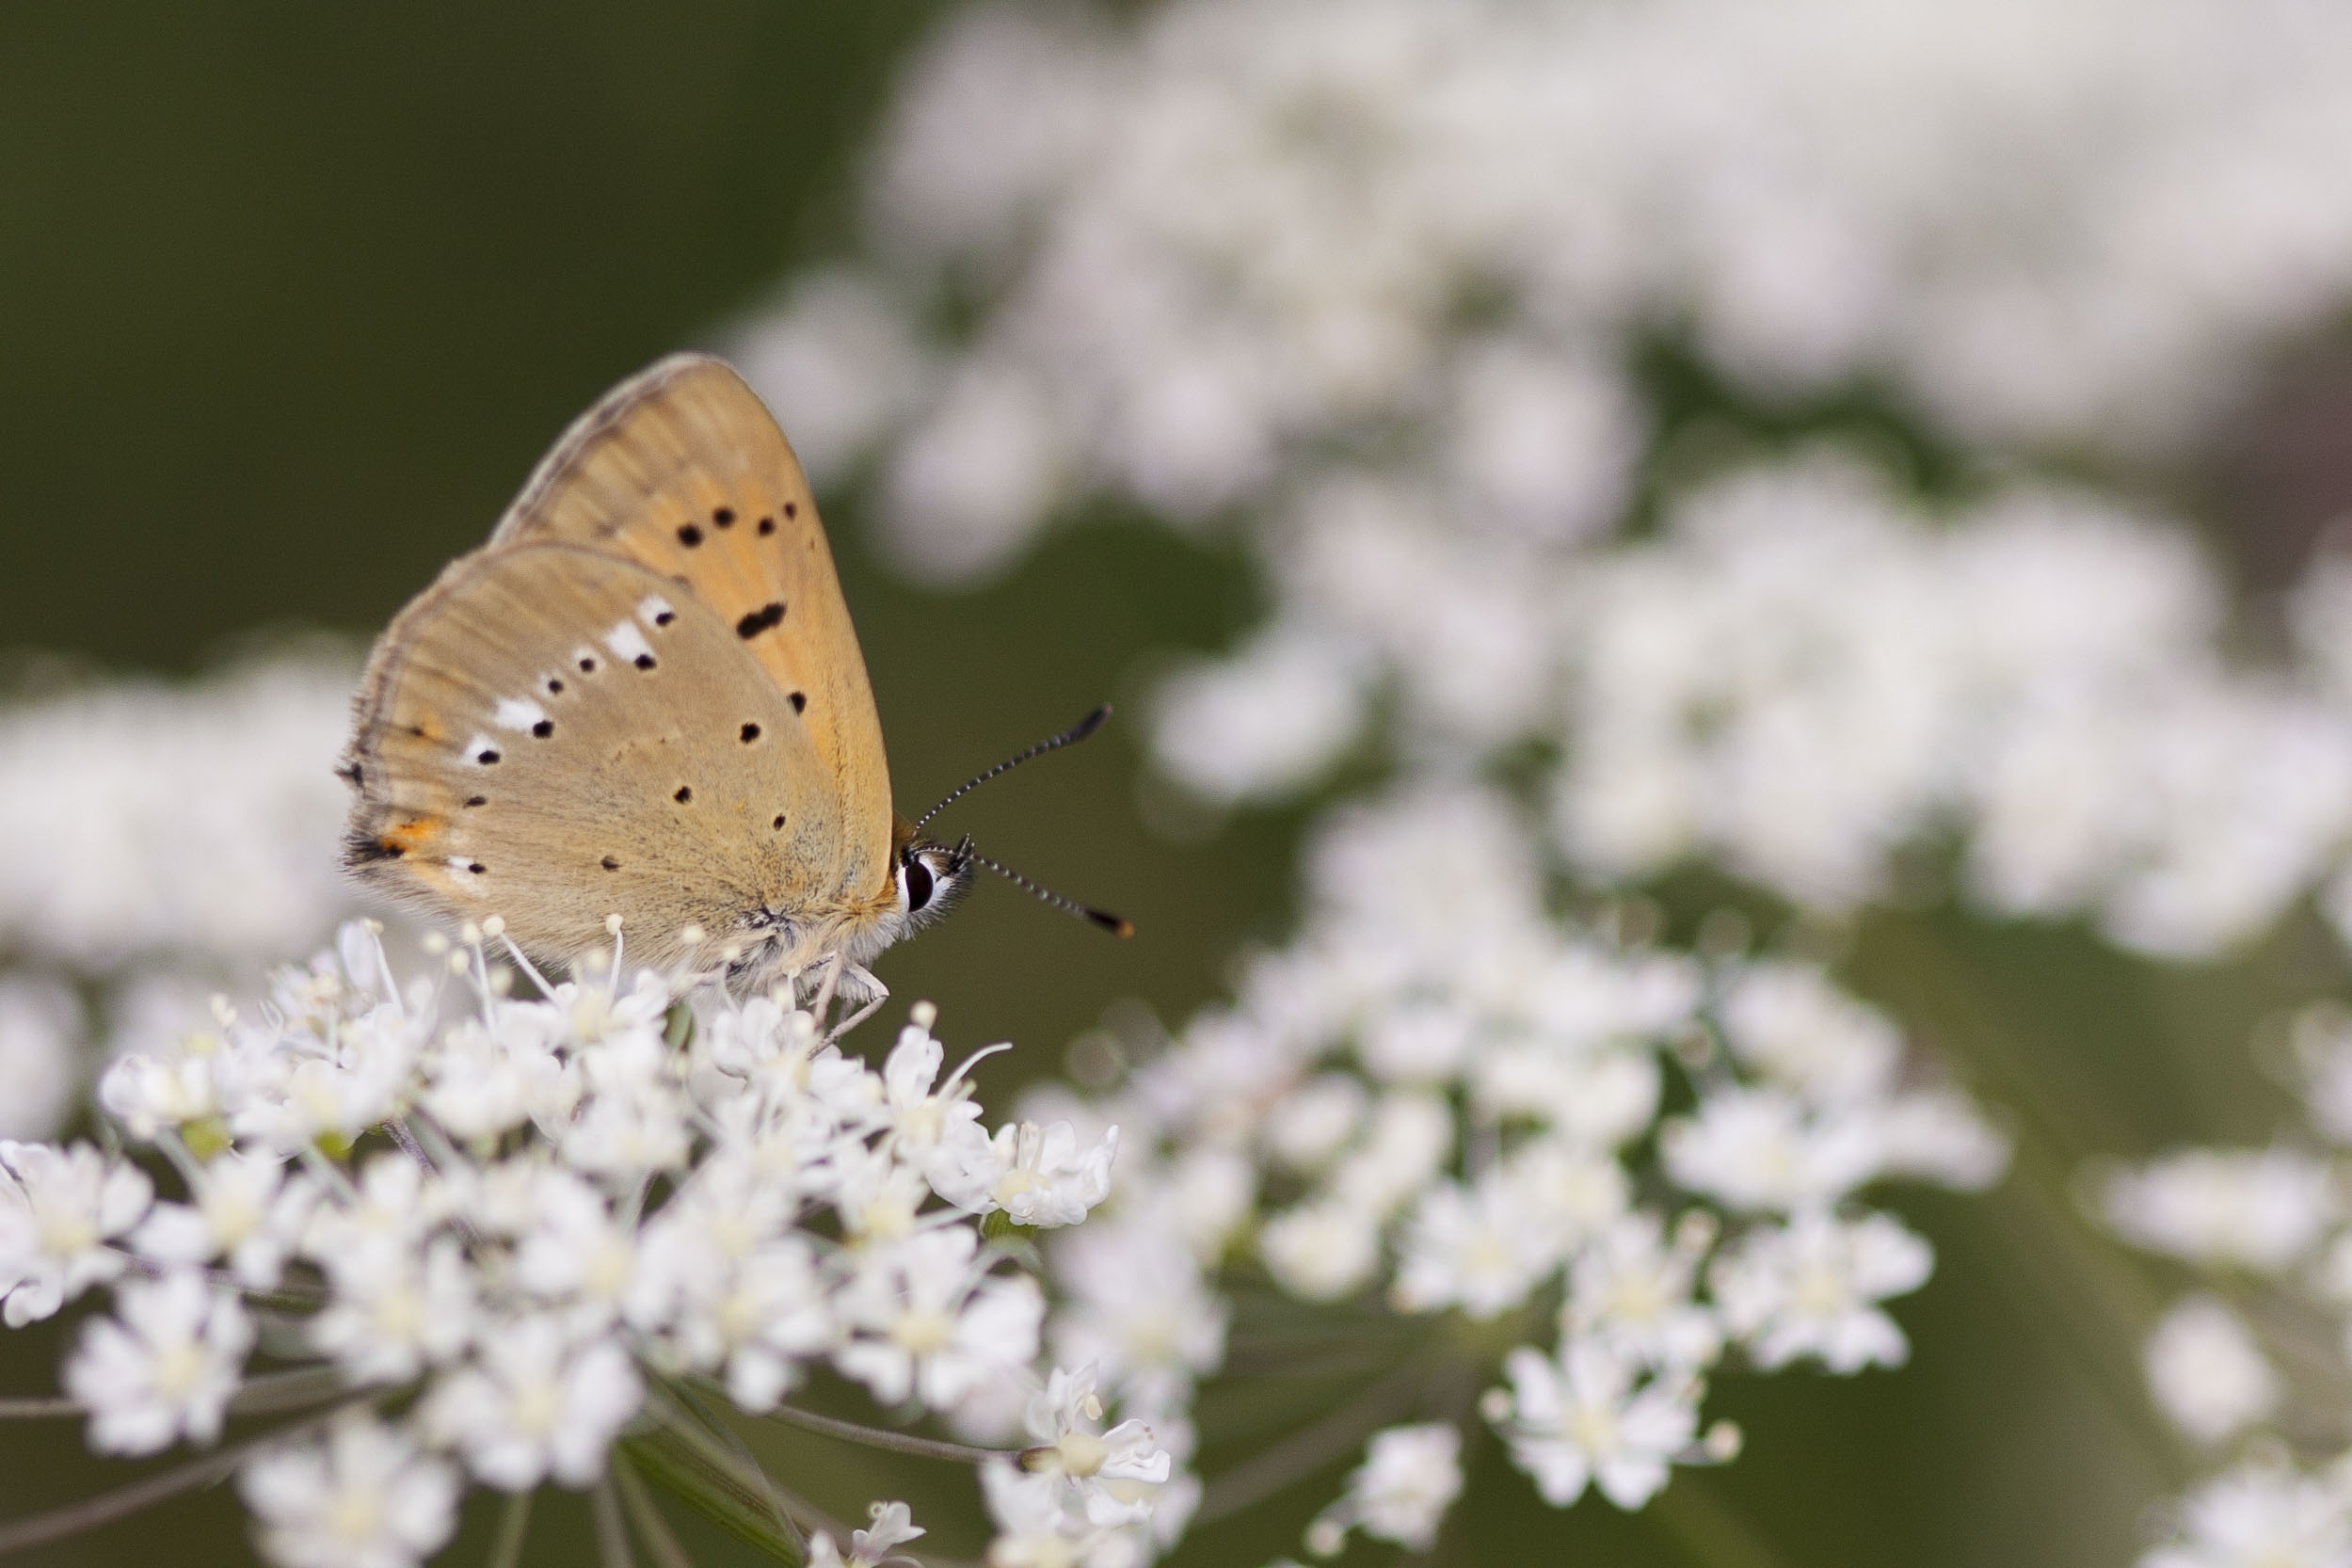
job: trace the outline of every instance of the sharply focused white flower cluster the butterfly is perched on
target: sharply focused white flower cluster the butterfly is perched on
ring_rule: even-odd
[[[510,997],[496,938],[433,940],[440,973],[400,983],[353,924],[263,1004],[120,1058],[103,1110],[179,1197],[92,1145],[0,1143],[7,1324],[113,1293],[64,1366],[92,1448],[212,1443],[306,1392],[310,1436],[245,1467],[263,1552],[400,1568],[466,1479],[604,1486],[626,1434],[696,1429],[696,1385],[767,1413],[830,1361],[891,1410],[1025,1420],[1040,1448],[985,1474],[1007,1540],[1136,1561],[1169,1458],[1096,1429],[1091,1366],[1040,1382],[1044,1295],[981,1225],[1082,1220],[1117,1128],[990,1135],[927,1004],[877,1072],[783,992],[621,985],[619,940],[602,978]],[[898,1540],[877,1516],[851,1561]]]

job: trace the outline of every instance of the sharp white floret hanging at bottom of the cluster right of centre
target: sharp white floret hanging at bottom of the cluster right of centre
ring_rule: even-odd
[[[1576,1502],[1588,1486],[1621,1509],[1642,1507],[1698,1432],[1689,1378],[1637,1385],[1635,1363],[1590,1340],[1564,1342],[1557,1359],[1522,1345],[1503,1371],[1510,1458],[1552,1507]]]

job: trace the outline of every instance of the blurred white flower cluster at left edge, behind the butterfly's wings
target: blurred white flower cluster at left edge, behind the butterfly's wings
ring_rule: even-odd
[[[334,849],[350,679],[285,654],[0,708],[0,1138],[64,1126],[92,1037],[136,1037],[355,907]]]

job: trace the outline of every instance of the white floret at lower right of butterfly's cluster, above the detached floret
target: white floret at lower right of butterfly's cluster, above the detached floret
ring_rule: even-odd
[[[887,1406],[953,1406],[1002,1366],[1037,1356],[1044,1300],[1028,1276],[985,1279],[978,1239],[927,1229],[858,1258],[835,1298],[849,1342],[833,1363]]]

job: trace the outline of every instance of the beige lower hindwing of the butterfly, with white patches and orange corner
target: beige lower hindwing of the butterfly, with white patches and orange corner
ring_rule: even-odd
[[[557,957],[602,947],[607,914],[663,966],[689,926],[717,947],[823,924],[849,825],[814,708],[663,574],[572,545],[477,550],[369,661],[350,863]]]

